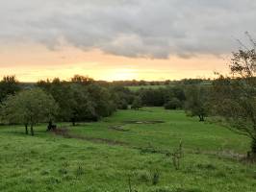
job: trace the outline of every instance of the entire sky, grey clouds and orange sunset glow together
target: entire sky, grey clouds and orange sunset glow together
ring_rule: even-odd
[[[0,77],[179,80],[228,73],[255,0],[0,0]]]

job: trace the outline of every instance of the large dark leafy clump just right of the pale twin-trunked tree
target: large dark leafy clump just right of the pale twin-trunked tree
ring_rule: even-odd
[[[112,92],[102,85],[93,84],[88,78],[75,76],[72,82],[59,79],[40,81],[38,86],[52,94],[60,106],[58,119],[71,121],[97,121],[111,115],[116,108]],[[67,102],[68,101],[68,102]]]

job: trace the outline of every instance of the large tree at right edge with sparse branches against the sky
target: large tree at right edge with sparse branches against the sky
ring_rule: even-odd
[[[220,75],[214,83],[215,112],[251,139],[249,155],[256,157],[256,42],[246,35],[253,47],[233,53],[231,77]]]

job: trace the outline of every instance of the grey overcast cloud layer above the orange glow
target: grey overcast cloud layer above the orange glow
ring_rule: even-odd
[[[1,0],[0,55],[33,44],[131,59],[219,57],[245,31],[255,36],[255,21],[255,0]]]

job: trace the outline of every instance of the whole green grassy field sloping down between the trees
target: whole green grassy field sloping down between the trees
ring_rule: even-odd
[[[162,122],[158,122],[162,121]],[[119,110],[58,134],[38,126],[0,127],[0,191],[255,191],[256,166],[243,160],[249,141],[183,111]],[[62,134],[62,135],[61,135]],[[172,157],[183,144],[180,168]]]

